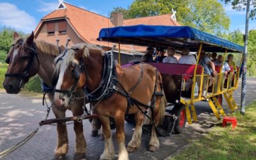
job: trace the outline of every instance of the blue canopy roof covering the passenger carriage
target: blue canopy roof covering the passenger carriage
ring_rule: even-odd
[[[97,40],[152,47],[189,47],[197,51],[200,42],[206,52],[243,52],[244,47],[188,26],[122,26],[100,30]]]

